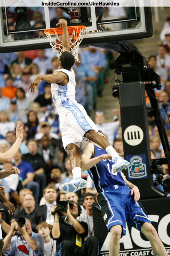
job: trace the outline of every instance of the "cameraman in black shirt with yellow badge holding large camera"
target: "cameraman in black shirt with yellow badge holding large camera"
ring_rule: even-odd
[[[57,202],[57,206],[52,209],[55,211],[55,216],[51,234],[52,238],[56,240],[56,255],[97,256],[99,250],[97,238],[90,236],[84,241],[88,234],[87,223],[76,220],[81,212],[79,204],[70,201],[67,203],[67,207],[64,207],[63,202],[66,201]],[[58,204],[61,210],[56,210]],[[59,218],[60,212],[65,215],[63,222]]]

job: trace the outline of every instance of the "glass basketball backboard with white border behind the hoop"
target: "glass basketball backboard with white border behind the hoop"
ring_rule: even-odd
[[[70,8],[28,7],[28,10],[21,10],[21,17],[20,9],[27,7],[17,7],[20,8],[17,14],[14,8],[0,7],[0,52],[50,48],[43,30],[55,27],[56,15],[66,18],[68,26],[75,25],[69,21]],[[23,21],[22,12],[27,11],[28,18]],[[151,7],[79,7],[79,16],[80,23],[76,24],[86,25],[80,47],[153,35]]]

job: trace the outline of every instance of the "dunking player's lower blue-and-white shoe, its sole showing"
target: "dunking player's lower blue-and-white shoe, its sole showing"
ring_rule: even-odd
[[[64,193],[72,193],[78,189],[86,188],[87,180],[74,178],[73,180],[60,185],[59,189]]]

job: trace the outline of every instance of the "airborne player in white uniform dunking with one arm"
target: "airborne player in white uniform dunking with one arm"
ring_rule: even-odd
[[[68,34],[67,21],[60,19],[56,26],[63,27],[63,53],[58,58],[58,70],[52,75],[39,75],[29,86],[33,93],[41,80],[51,83],[52,99],[58,110],[62,129],[62,142],[70,159],[73,180],[60,185],[60,190],[72,193],[76,189],[85,188],[87,181],[81,178],[80,147],[83,148],[89,140],[98,143],[111,155],[114,162],[114,171],[120,172],[127,169],[129,162],[120,158],[114,148],[98,134],[98,129],[86,110],[75,100],[75,75],[71,68],[74,65],[74,56],[70,53],[70,36]]]

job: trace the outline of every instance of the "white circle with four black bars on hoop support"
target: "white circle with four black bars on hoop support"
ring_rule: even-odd
[[[137,125],[130,125],[125,129],[123,136],[127,144],[137,146],[143,140],[143,131]]]

